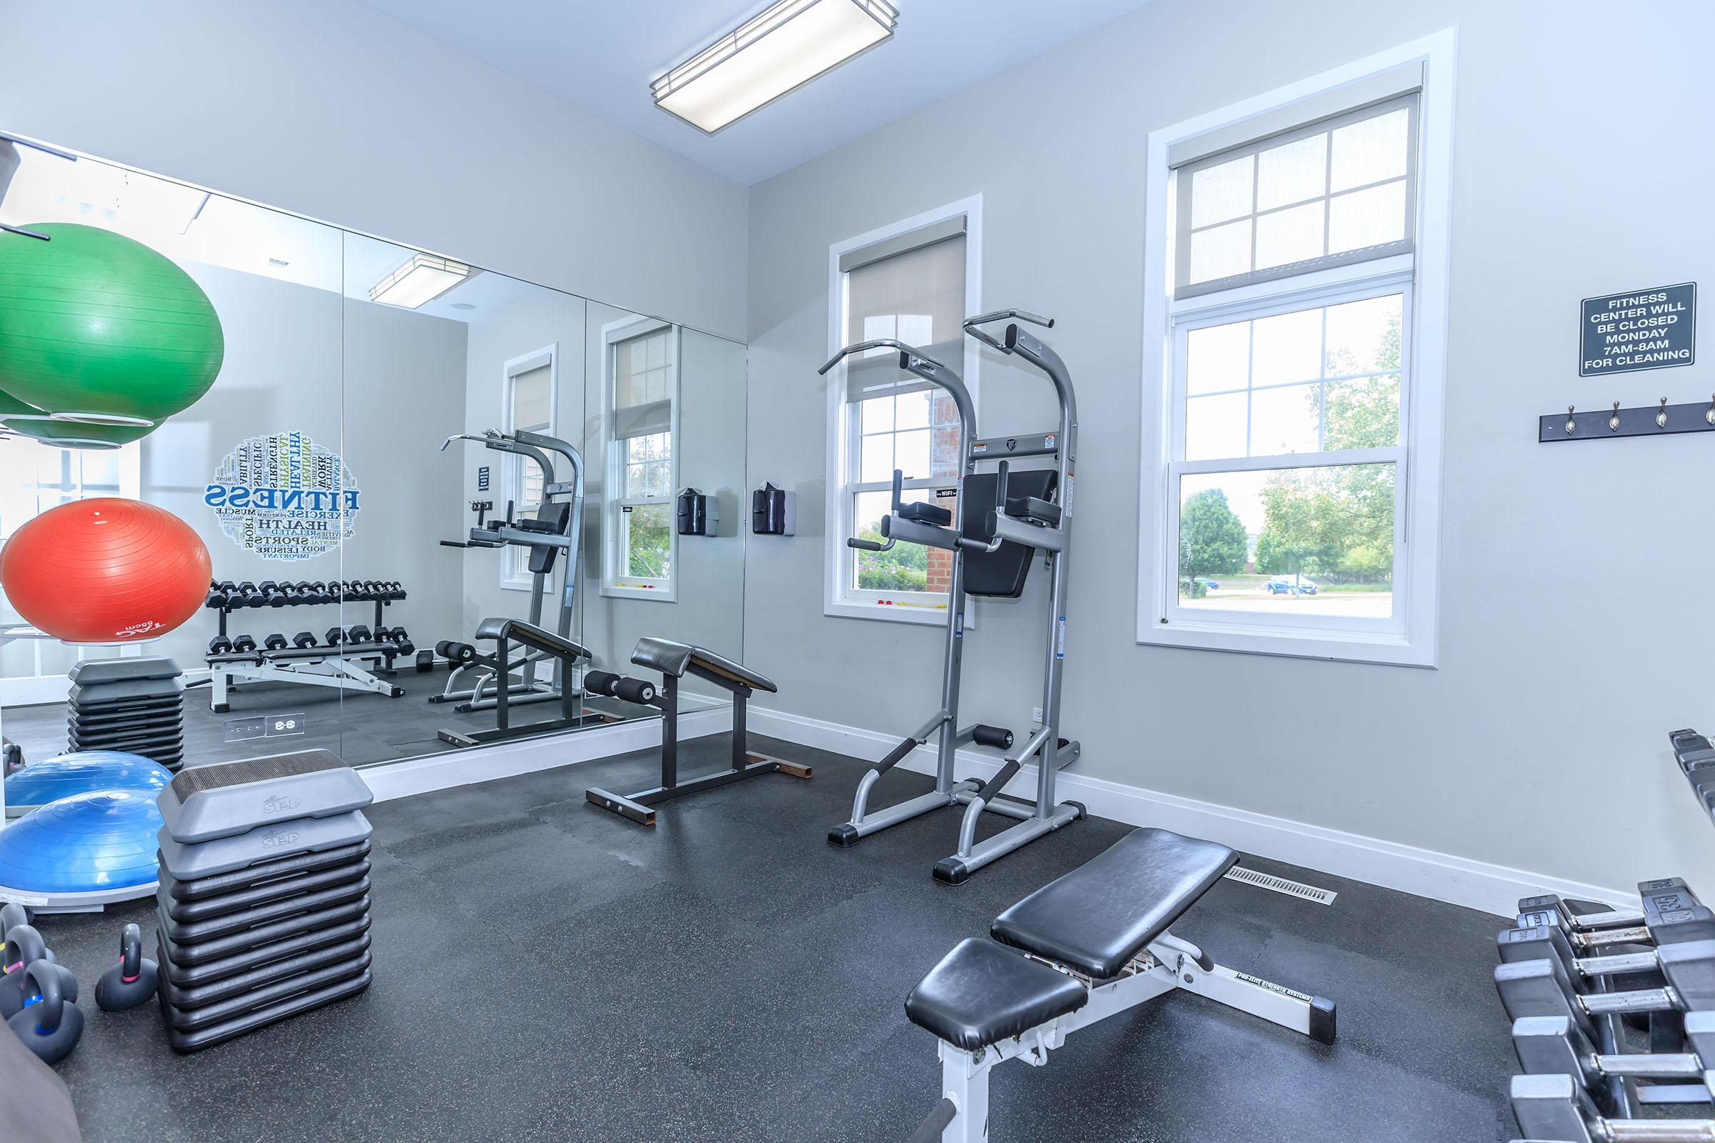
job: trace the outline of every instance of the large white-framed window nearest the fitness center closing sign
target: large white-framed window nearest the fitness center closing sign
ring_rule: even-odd
[[[1435,665],[1454,50],[1149,135],[1139,643]]]

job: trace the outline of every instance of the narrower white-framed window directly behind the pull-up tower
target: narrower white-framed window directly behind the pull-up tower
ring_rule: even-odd
[[[978,351],[964,317],[981,310],[981,212],[976,195],[828,247],[828,353],[904,341],[957,370],[976,399]],[[847,358],[830,375],[823,613],[947,622],[950,552],[916,543],[858,552],[845,538],[880,538],[895,468],[907,502],[952,507],[959,459],[952,398],[900,370],[897,351]]]

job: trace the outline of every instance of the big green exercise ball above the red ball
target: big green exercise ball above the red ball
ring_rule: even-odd
[[[220,375],[226,339],[172,259],[99,226],[0,231],[0,389],[60,420],[153,427]]]

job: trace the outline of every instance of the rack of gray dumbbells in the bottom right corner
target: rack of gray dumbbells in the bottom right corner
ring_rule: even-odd
[[[1638,893],[1641,908],[1523,898],[1497,937],[1531,1141],[1715,1138],[1715,913],[1677,877]]]

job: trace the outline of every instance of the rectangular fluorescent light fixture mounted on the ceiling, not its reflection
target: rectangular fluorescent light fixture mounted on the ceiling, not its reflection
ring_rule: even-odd
[[[890,39],[887,0],[777,0],[652,86],[655,106],[715,134]]]

